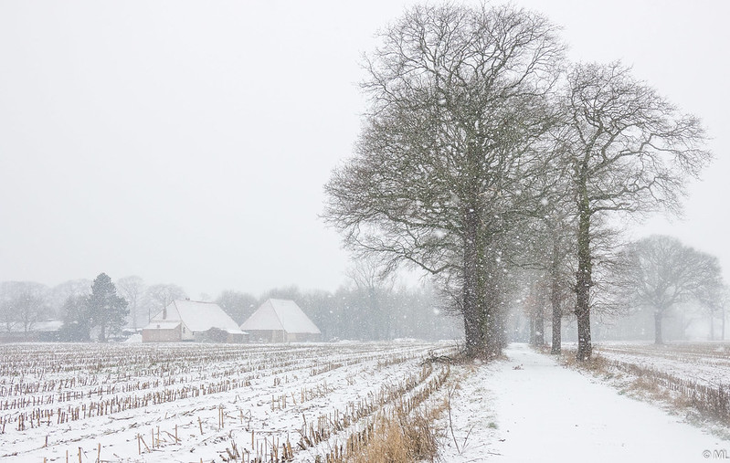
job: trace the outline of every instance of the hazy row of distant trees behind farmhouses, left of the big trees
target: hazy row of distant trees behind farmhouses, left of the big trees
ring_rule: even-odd
[[[397,287],[395,279],[380,278],[372,265],[358,266],[350,276],[350,282],[334,292],[289,287],[271,289],[257,298],[225,290],[215,302],[241,324],[264,300],[294,300],[320,327],[325,340],[460,337],[460,327],[440,312],[438,297],[428,286]],[[146,287],[139,277],[119,279],[116,285],[104,273],[88,286],[78,281],[56,289],[33,282],[0,283],[4,323],[0,331],[23,331],[27,337],[38,321],[56,318],[63,321],[59,340],[103,342],[123,328],[137,331],[172,300],[185,298],[176,285]],[[69,286],[76,292],[54,308],[58,292]]]

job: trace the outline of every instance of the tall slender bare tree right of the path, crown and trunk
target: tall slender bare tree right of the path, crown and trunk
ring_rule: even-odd
[[[596,220],[616,212],[677,211],[685,178],[697,176],[711,155],[702,149],[700,121],[618,62],[575,66],[567,77],[564,108],[565,123],[556,138],[566,155],[577,210],[577,357],[582,361],[592,353]]]

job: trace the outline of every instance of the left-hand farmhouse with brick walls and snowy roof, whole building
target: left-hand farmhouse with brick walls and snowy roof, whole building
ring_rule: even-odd
[[[244,342],[245,337],[217,304],[195,300],[172,301],[142,330],[142,342]]]

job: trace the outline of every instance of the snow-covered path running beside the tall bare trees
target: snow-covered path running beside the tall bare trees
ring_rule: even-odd
[[[658,406],[619,395],[525,345],[513,344],[505,353],[508,361],[471,374],[452,401],[456,436],[445,443],[445,460],[730,460],[730,442]]]

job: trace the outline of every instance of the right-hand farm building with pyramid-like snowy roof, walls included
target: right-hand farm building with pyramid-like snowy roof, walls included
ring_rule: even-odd
[[[302,342],[319,341],[322,332],[293,300],[270,299],[261,304],[241,330],[251,341]]]

